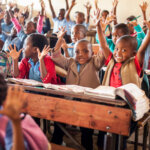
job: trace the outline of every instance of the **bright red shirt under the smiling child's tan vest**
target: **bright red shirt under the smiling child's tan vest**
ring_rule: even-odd
[[[110,53],[110,55],[108,56],[105,62],[106,66],[108,65],[112,57],[113,55],[112,53]],[[135,62],[137,74],[140,76],[143,67],[140,66],[137,56],[135,56],[134,60],[135,60],[134,62]],[[122,80],[121,80],[121,74],[120,74],[121,66],[122,66],[122,63],[115,63],[111,76],[110,76],[110,86],[113,86],[115,88],[122,86]]]

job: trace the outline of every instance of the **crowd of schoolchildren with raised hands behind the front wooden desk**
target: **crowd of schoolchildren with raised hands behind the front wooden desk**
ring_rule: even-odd
[[[100,85],[100,80],[102,80],[102,85],[116,88],[128,83],[134,83],[139,88],[142,87],[144,62],[148,63],[149,61],[149,58],[144,61],[145,53],[149,51],[147,47],[150,44],[149,21],[144,21],[144,26],[147,28],[144,31],[137,23],[135,16],[128,17],[126,23],[117,23],[116,9],[118,1],[114,0],[112,14],[109,16],[109,11],[107,10],[101,13],[97,0],[95,0],[96,11],[93,18],[94,27],[97,29],[96,41],[99,43],[100,48],[98,53],[94,55],[92,44],[86,40],[91,5],[89,3],[85,5],[87,9],[86,19],[83,12],[77,11],[75,12],[75,21],[72,21],[69,14],[76,5],[75,0],[72,0],[70,7],[68,0],[65,0],[66,10],[60,9],[58,17],[56,17],[51,1],[50,9],[54,23],[53,35],[55,34],[58,38],[54,48],[48,46],[48,40],[43,35],[46,30],[43,23],[45,17],[43,1],[41,1],[41,13],[38,15],[38,21],[35,21],[37,18],[34,18],[33,21],[27,21],[27,16],[29,15],[27,11],[19,14],[19,10],[12,8],[12,5],[5,13],[1,12],[0,44],[4,44],[4,46],[1,46],[3,51],[0,51],[0,70],[5,68],[5,71],[1,71],[5,77],[13,76],[15,78],[33,79],[43,83],[62,84],[55,70],[55,65],[58,65],[67,71],[65,84],[96,88]],[[146,19],[145,5],[147,6],[147,3],[143,3],[140,6],[144,19]],[[2,16],[5,17],[3,18]],[[114,27],[111,32],[112,22]],[[9,29],[9,31],[6,31],[6,29]],[[7,32],[11,32],[11,34],[8,35]],[[20,48],[23,49],[19,50]],[[64,54],[62,54],[62,49]],[[107,66],[107,69],[103,79],[100,79],[99,72],[103,66]],[[3,79],[1,84],[6,84]],[[0,86],[0,88],[3,89],[3,86]],[[5,89],[6,91],[7,88]],[[4,99],[5,96],[1,101]],[[0,104],[2,105],[1,101]],[[2,114],[6,114],[11,119],[12,124],[14,124],[12,125],[13,131],[15,131],[16,120],[7,113]],[[17,117],[19,118],[19,116]],[[17,120],[19,120],[18,118]],[[14,137],[15,140],[21,140],[20,143],[23,143],[19,124],[17,126],[20,128],[20,131],[18,131],[20,138],[18,139],[17,135],[14,134],[13,136],[16,136]],[[54,132],[56,128],[60,130],[55,126]],[[57,133],[59,134],[60,132]],[[105,133],[102,134],[104,135]],[[54,133],[54,135],[56,134]],[[62,144],[63,134],[61,135],[61,137],[52,138],[52,142]],[[93,149],[92,135],[93,130],[81,128],[81,144],[86,150]],[[104,136],[99,136],[99,149],[103,149],[103,138]],[[14,146],[16,146],[15,140],[13,141]],[[28,144],[28,141],[21,146],[26,146],[26,144]],[[0,146],[4,145],[0,144]],[[11,147],[14,146],[11,145]],[[7,147],[7,143],[5,143],[5,147]],[[126,138],[124,139],[125,149]]]

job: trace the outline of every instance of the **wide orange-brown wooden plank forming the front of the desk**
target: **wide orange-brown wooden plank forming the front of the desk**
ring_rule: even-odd
[[[65,100],[25,93],[23,112],[31,116],[70,125],[129,135],[131,111],[128,109]]]

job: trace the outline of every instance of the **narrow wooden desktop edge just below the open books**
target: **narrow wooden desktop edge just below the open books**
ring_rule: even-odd
[[[8,84],[9,86],[14,86],[15,84]],[[46,88],[38,88],[38,87],[31,87],[31,86],[23,86],[19,85],[24,88],[24,90],[33,91],[33,92],[40,92],[40,93],[46,93],[46,94],[53,94],[53,95],[60,95],[60,96],[68,96],[72,98],[80,98],[84,99],[85,101],[89,102],[97,102],[97,103],[103,103],[103,104],[109,104],[109,105],[115,105],[115,106],[125,106],[127,103],[123,100],[110,100],[110,99],[100,99],[99,97],[94,97],[91,95],[84,95],[84,94],[76,94],[76,93],[67,93],[65,91],[61,90],[52,90],[52,89],[46,89]]]

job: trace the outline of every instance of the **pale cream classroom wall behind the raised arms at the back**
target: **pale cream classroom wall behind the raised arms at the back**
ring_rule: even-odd
[[[40,10],[40,5],[39,5],[39,0],[16,0],[18,2],[19,5],[29,5],[32,2],[34,3],[34,10]],[[49,0],[44,0],[45,4],[46,4],[46,12],[49,16],[51,16],[51,12],[49,9]],[[52,4],[56,10],[56,14],[58,14],[58,11],[60,8],[65,8],[65,0],[51,0]],[[68,0],[69,3],[71,3],[71,0]],[[77,5],[73,8],[72,12],[71,12],[71,18],[73,18],[73,14],[75,11],[79,10],[82,12],[85,12],[85,7],[83,6],[83,4],[85,4],[88,0],[76,0],[77,1]],[[94,10],[94,0],[89,0],[90,3],[93,6],[93,9],[91,11],[91,14],[93,14],[93,10]],[[150,5],[150,1],[149,0],[145,0],[147,2],[149,2]],[[124,22],[125,19],[130,16],[130,15],[135,15],[135,16],[139,16],[141,15],[141,17],[138,19],[139,23],[142,24],[142,13],[139,7],[139,4],[141,4],[143,2],[143,0],[119,0],[119,4],[118,4],[118,9],[117,9],[117,18],[118,18],[118,22]],[[103,9],[107,9],[107,10],[111,10],[112,8],[112,0],[99,0],[99,7],[103,10]],[[150,6],[148,6],[147,9],[147,17],[150,16]],[[148,17],[149,18],[149,17]],[[92,24],[92,22],[91,22]]]

